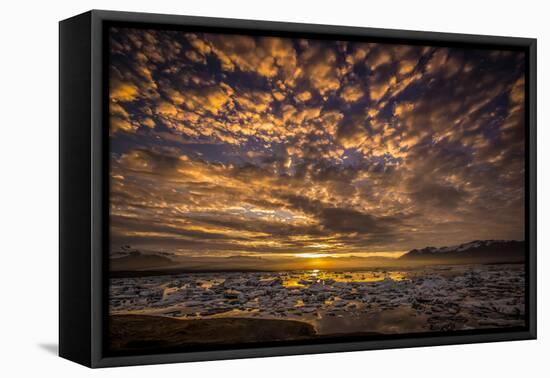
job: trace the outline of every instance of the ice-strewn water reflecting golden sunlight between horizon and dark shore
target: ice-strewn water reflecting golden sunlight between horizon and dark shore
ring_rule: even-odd
[[[185,273],[111,280],[112,314],[290,319],[321,335],[524,324],[521,265]]]

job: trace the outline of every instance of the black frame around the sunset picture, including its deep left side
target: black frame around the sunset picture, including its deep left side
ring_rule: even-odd
[[[108,112],[105,28],[147,25],[246,34],[523,50],[526,70],[526,327],[322,344],[113,357],[106,350]],[[89,367],[406,348],[536,338],[536,39],[92,10],[59,24],[59,354]]]

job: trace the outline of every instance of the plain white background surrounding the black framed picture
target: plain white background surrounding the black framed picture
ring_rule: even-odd
[[[0,375],[520,377],[550,371],[550,26],[544,1],[4,1],[0,21]],[[90,370],[56,356],[58,26],[89,9],[538,38],[539,340]],[[546,143],[545,143],[546,142]],[[546,193],[545,193],[546,192]],[[546,194],[546,197],[545,197]],[[546,300],[545,300],[546,299]],[[546,350],[545,350],[546,349]]]

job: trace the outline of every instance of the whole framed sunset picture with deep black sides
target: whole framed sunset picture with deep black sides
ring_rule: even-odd
[[[536,41],[60,23],[60,355],[536,337]]]

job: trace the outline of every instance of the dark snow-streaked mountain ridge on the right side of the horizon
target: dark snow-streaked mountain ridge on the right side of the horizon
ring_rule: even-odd
[[[450,247],[413,249],[399,258],[403,262],[430,264],[515,263],[525,261],[525,242],[474,240]]]

